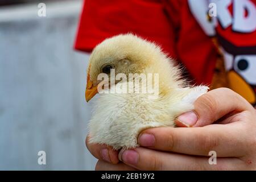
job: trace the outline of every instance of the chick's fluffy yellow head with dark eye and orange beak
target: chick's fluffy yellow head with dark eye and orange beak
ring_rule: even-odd
[[[98,93],[97,86],[100,73],[109,76],[114,69],[115,75],[123,73],[160,73],[172,77],[172,63],[159,46],[133,34],[121,34],[105,39],[93,49],[87,70],[85,97],[89,101]],[[168,79],[167,79],[168,80]],[[117,82],[115,82],[117,83]]]

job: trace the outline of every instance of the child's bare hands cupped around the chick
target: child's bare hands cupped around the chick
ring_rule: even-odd
[[[230,89],[215,89],[196,100],[195,113],[197,117],[178,117],[182,122],[194,118],[189,121],[192,127],[144,130],[138,138],[142,147],[121,151],[118,165],[102,160],[103,146],[87,143],[100,159],[96,169],[256,169],[256,111],[249,102]],[[208,162],[210,151],[216,151],[216,165]],[[110,162],[118,162],[117,151],[107,154]]]

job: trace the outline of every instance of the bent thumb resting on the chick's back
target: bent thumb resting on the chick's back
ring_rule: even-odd
[[[206,126],[232,112],[253,109],[243,97],[227,88],[214,89],[203,94],[195,101],[194,106],[194,113],[189,111],[177,117],[177,126]]]

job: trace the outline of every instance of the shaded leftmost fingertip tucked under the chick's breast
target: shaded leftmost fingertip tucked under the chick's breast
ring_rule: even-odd
[[[89,143],[90,136],[87,135],[85,144],[90,153],[97,159],[105,160],[106,162],[117,164],[118,151],[113,150],[112,147],[106,146],[105,144]]]

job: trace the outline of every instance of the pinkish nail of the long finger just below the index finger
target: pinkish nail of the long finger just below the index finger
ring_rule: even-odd
[[[124,150],[120,151],[121,154],[119,155],[119,160],[126,164],[131,164],[136,166],[138,163],[139,155],[135,150]]]

